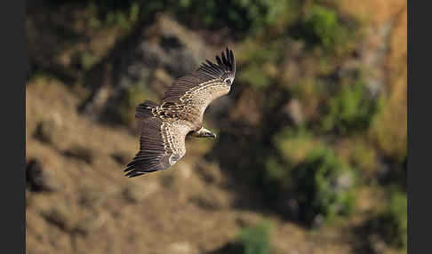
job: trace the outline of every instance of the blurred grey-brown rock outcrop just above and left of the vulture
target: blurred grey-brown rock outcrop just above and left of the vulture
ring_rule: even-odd
[[[137,86],[147,91],[147,96],[161,99],[172,78],[195,70],[204,59],[214,57],[201,36],[167,15],[158,16],[150,26],[136,29],[140,32],[134,35],[131,47],[101,63],[109,66],[108,82],[100,80],[101,85],[95,85],[90,98],[81,106],[85,115],[107,119],[113,117],[108,114],[121,114],[116,107]]]

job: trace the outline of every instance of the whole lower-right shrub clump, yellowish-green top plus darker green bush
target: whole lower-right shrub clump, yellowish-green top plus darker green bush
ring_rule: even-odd
[[[269,155],[261,180],[268,200],[290,194],[300,205],[300,220],[317,215],[332,221],[349,215],[354,205],[356,173],[307,129],[285,129],[274,138],[277,154]]]

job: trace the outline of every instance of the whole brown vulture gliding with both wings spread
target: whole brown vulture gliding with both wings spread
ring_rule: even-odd
[[[234,54],[227,48],[216,56],[216,63],[206,60],[196,71],[175,80],[161,105],[150,100],[141,103],[135,114],[142,122],[140,151],[127,164],[125,176],[168,169],[186,154],[187,135],[216,138],[203,126],[204,111],[213,99],[228,94],[235,75]]]

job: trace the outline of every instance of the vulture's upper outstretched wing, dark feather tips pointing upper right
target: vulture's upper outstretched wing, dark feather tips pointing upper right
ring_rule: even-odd
[[[163,102],[195,107],[203,117],[205,108],[213,99],[228,93],[236,75],[236,61],[231,50],[227,48],[226,52],[221,52],[216,61],[215,64],[206,60],[193,73],[174,81],[165,91]]]

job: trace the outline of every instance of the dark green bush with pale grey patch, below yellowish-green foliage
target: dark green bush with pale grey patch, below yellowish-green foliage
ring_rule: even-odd
[[[353,208],[351,188],[355,174],[329,148],[316,148],[292,170],[302,218],[312,222],[316,215],[332,220],[348,215]]]

